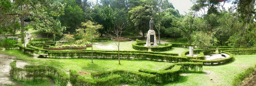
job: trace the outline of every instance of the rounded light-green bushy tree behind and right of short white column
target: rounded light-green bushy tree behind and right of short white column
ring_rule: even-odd
[[[213,44],[216,43],[216,40],[212,42],[214,33],[204,33],[202,31],[195,31],[192,37],[194,39],[192,44],[196,45],[197,47],[203,50],[210,48]]]

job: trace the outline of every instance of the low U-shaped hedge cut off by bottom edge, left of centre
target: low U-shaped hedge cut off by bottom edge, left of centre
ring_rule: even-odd
[[[120,75],[111,75],[101,79],[86,79],[81,76],[77,71],[69,70],[70,83],[73,86],[110,86],[120,83]]]

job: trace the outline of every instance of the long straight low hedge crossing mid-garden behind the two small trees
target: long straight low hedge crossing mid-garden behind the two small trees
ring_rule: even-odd
[[[48,52],[50,58],[91,58],[91,51],[58,51],[58,52]],[[101,52],[93,51],[94,58],[104,58],[104,59],[117,59],[117,52]],[[153,61],[165,61],[165,62],[186,62],[186,57],[179,56],[165,56],[156,54],[146,54],[146,53],[120,53],[121,59],[140,59],[140,60],[153,60]]]

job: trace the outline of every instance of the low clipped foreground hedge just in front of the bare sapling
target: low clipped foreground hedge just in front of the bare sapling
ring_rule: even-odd
[[[100,79],[104,77],[110,77],[112,75],[120,75],[120,82],[127,84],[136,84],[139,86],[154,85],[156,75],[128,71],[128,70],[112,70],[112,71],[101,71],[91,73],[93,79]]]

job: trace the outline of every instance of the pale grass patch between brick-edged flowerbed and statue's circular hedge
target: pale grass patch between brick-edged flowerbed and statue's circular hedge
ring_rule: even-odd
[[[117,43],[117,41],[116,41]],[[132,48],[132,44],[136,43],[136,41],[126,41],[120,42],[120,50],[135,50]],[[93,50],[118,50],[118,47],[114,43],[114,41],[106,41],[106,42],[93,42]],[[86,49],[91,50],[91,47],[87,47]]]

